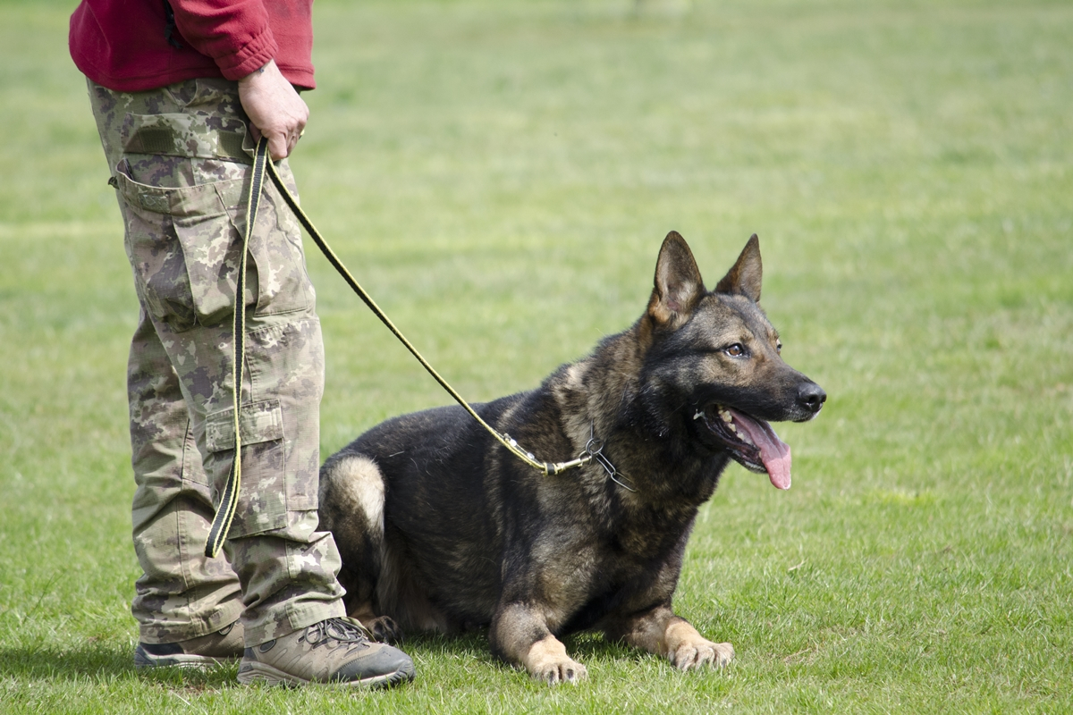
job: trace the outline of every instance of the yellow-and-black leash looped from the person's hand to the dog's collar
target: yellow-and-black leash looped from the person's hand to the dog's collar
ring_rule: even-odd
[[[291,194],[291,190],[286,188],[283,183],[282,177],[279,175],[279,170],[276,165],[268,161],[268,139],[261,137],[261,141],[258,143],[258,150],[253,159],[253,176],[250,181],[250,192],[246,203],[246,232],[242,235],[242,253],[239,258],[238,265],[238,281],[235,288],[235,345],[234,345],[234,367],[232,371],[232,376],[235,381],[235,394],[234,394],[234,411],[235,411],[235,458],[232,462],[231,474],[227,476],[227,483],[224,487],[223,494],[220,496],[220,506],[217,509],[216,518],[212,520],[212,526],[209,530],[208,543],[205,547],[205,555],[209,557],[216,556],[220,548],[223,546],[224,540],[227,538],[227,532],[231,530],[231,522],[235,518],[235,509],[238,506],[238,490],[241,485],[241,437],[239,435],[239,393],[241,392],[242,386],[242,363],[246,359],[246,255],[249,250],[250,237],[253,235],[253,224],[256,222],[258,207],[261,204],[261,192],[264,188],[264,175],[265,168],[268,169],[268,176],[271,178],[271,182],[276,184],[279,193],[283,196],[283,200],[286,205],[294,211],[294,215],[297,217],[298,222],[302,223],[303,227],[317,243],[317,247],[324,254],[324,257],[328,259],[328,263],[342,275],[343,280],[347,281],[351,289],[357,294],[357,296],[369,307],[369,310],[380,318],[380,322],[387,326],[387,329],[398,338],[399,342],[406,345],[406,348],[410,351],[422,367],[430,374],[436,382],[443,387],[447,393],[455,399],[455,401],[469,413],[470,417],[475,419],[481,427],[488,431],[497,441],[506,449],[517,457],[519,460],[542,472],[545,475],[556,475],[565,470],[570,470],[576,466],[582,466],[588,464],[592,460],[597,460],[601,466],[607,472],[612,479],[617,483],[624,487],[626,489],[632,488],[626,486],[619,481],[616,477],[622,476],[621,473],[617,472],[613,464],[604,457],[601,451],[603,449],[603,443],[594,437],[589,440],[589,444],[586,446],[586,450],[574,460],[569,462],[540,462],[533,457],[532,452],[526,451],[518,446],[518,443],[511,437],[510,434],[500,433],[490,424],[488,424],[482,417],[476,414],[476,411],[459,394],[455,388],[445,381],[440,373],[425,359],[425,357],[417,352],[417,348],[407,340],[406,336],[395,327],[387,314],[381,310],[380,306],[372,299],[372,297],[366,293],[365,288],[354,280],[347,267],[343,265],[339,257],[335,254],[332,248],[327,244],[324,238],[321,236],[320,232],[313,225],[313,222],[309,220],[306,212],[302,210],[298,206],[298,202],[295,200],[294,196]]]

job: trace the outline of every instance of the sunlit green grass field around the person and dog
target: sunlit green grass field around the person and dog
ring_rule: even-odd
[[[0,712],[1073,712],[1073,5],[318,0],[303,203],[464,394],[626,328],[672,228],[709,284],[760,235],[829,393],[792,490],[733,466],[701,512],[676,608],[731,667],[580,636],[549,689],[416,638],[355,696],[133,669],[136,304],[73,4],[0,4]],[[445,403],[309,264],[322,456]]]

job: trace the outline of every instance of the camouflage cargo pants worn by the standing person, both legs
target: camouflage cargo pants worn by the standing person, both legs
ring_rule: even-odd
[[[231,317],[251,163],[237,87],[121,93],[90,81],[89,96],[142,308],[128,370],[141,638],[186,640],[241,617],[252,645],[343,615],[339,554],[318,531],[315,296],[298,226],[269,182],[244,296],[241,493],[223,554],[204,555],[234,453]]]

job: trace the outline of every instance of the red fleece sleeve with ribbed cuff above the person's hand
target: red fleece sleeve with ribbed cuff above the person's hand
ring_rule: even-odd
[[[240,79],[276,57],[279,45],[262,0],[171,0],[175,26],[227,79]]]

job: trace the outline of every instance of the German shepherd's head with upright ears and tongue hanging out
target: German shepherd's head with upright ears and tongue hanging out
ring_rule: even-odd
[[[789,489],[790,447],[768,422],[812,419],[827,394],[783,362],[779,334],[759,306],[762,274],[753,235],[709,292],[685,239],[667,234],[646,315],[647,378],[674,396],[661,412],[688,420],[700,447]]]

